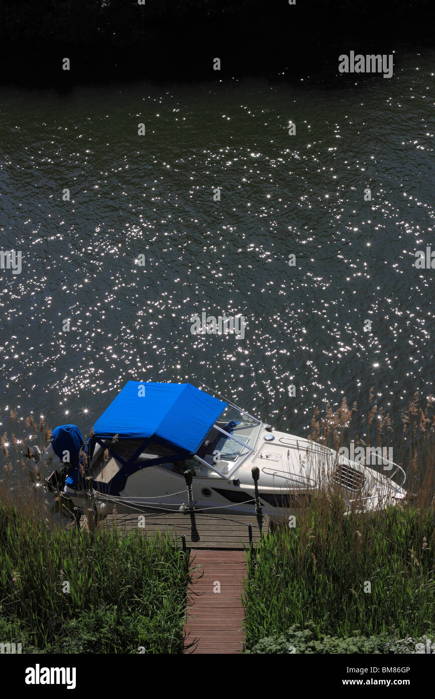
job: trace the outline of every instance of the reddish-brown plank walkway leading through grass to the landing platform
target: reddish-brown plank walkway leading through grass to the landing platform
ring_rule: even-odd
[[[244,552],[216,549],[192,552],[191,572],[193,584],[186,610],[184,653],[238,653],[244,640]]]

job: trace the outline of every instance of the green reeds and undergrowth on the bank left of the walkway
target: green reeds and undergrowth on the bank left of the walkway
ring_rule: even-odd
[[[37,512],[0,506],[2,642],[23,653],[182,652],[186,554],[165,537],[65,530]]]

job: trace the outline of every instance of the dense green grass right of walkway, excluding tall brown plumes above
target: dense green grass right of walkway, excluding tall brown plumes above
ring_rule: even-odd
[[[244,608],[248,648],[310,622],[337,637],[433,632],[433,510],[345,516],[338,497],[319,496],[295,528],[279,527],[260,545]]]

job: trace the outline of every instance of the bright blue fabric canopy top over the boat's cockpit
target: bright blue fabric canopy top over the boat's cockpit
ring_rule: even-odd
[[[128,381],[94,424],[96,438],[153,438],[196,454],[228,403],[191,384]]]

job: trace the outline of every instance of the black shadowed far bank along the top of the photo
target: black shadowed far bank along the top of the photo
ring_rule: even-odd
[[[337,72],[342,51],[430,45],[431,19],[428,0],[6,0],[1,81],[68,89],[113,80],[316,78]],[[71,71],[62,71],[64,57]],[[214,57],[221,59],[217,76]]]

